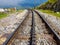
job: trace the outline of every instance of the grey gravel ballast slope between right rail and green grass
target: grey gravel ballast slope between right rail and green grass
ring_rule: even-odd
[[[42,13],[40,11],[38,12],[43,18],[46,19],[46,21],[48,21],[50,26],[60,35],[60,18],[52,16],[50,14]]]

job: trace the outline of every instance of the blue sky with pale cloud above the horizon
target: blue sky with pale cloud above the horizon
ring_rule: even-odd
[[[40,5],[47,0],[0,0],[0,8],[4,7],[33,7],[35,5]]]

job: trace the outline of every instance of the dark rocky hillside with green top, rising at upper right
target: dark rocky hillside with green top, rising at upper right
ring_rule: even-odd
[[[38,6],[37,9],[60,11],[60,0],[48,0],[44,4]]]

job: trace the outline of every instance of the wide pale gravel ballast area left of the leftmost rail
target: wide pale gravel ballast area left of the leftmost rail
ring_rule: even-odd
[[[12,14],[0,20],[0,45],[3,44],[9,35],[22,23],[27,13],[28,11],[24,10],[22,13]]]

